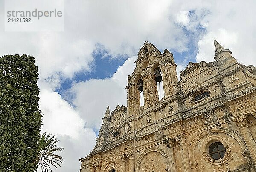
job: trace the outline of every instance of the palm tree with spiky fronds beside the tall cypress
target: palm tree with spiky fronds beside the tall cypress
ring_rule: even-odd
[[[56,151],[62,151],[63,148],[57,147],[56,143],[59,140],[51,135],[50,133],[46,136],[46,132],[44,132],[39,140],[35,163],[41,166],[42,172],[49,172],[49,170],[52,172],[50,164],[57,168],[57,165],[60,166],[60,163],[63,163],[63,158],[55,154]]]

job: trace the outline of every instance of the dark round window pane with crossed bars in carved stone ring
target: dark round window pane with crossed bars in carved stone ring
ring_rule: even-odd
[[[225,152],[226,148],[223,146],[221,142],[212,143],[211,146],[209,147],[209,155],[215,160],[223,158]]]

